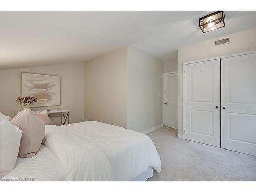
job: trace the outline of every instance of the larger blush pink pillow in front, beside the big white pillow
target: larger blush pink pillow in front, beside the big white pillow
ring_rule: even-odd
[[[11,120],[11,123],[23,131],[18,156],[33,157],[40,150],[42,139],[45,135],[44,122],[30,109],[24,109]]]

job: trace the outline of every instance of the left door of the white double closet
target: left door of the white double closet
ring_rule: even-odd
[[[220,147],[220,59],[185,67],[184,137]]]

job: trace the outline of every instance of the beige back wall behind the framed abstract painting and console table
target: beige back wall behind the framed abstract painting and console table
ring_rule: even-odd
[[[61,106],[46,108],[67,108],[70,123],[84,121],[84,63],[0,70],[0,112],[5,115],[14,117],[21,110],[16,99],[22,94],[22,72],[61,76]],[[60,119],[52,118],[57,125]]]

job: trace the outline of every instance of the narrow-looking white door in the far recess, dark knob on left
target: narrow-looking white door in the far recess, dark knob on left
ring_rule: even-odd
[[[178,73],[164,75],[164,126],[178,129]]]

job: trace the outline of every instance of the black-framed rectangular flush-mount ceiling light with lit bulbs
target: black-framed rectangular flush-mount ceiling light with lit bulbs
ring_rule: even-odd
[[[199,27],[203,33],[225,27],[224,11],[216,11],[199,19]]]

